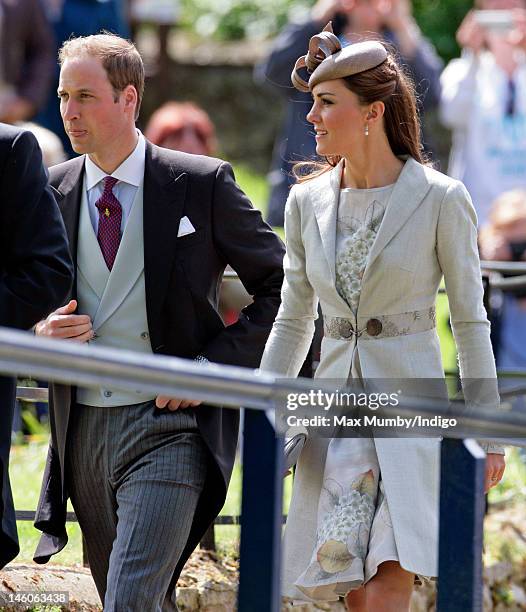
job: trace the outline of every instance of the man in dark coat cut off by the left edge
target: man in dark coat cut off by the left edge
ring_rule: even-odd
[[[70,291],[64,224],[30,132],[0,124],[0,326],[30,329]],[[13,378],[0,377],[0,569],[19,551],[9,484]]]

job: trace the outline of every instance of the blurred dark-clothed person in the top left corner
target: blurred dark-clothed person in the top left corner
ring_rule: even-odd
[[[53,32],[40,0],[0,0],[0,121],[27,121],[51,90]]]

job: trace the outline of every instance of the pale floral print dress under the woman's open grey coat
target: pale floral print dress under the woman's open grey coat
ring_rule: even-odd
[[[393,187],[340,191],[336,288],[354,315]],[[362,380],[357,354],[351,378]],[[313,600],[332,600],[365,584],[380,563],[390,560],[398,561],[398,553],[374,442],[333,438],[318,502],[316,545],[295,585]]]

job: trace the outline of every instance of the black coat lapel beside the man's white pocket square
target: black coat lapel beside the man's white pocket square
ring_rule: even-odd
[[[177,231],[182,217],[187,174],[146,144],[144,175],[144,281],[153,350],[161,348],[161,313],[170,280]]]

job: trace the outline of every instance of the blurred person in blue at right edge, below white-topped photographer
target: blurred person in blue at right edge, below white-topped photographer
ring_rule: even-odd
[[[526,262],[526,190],[500,195],[479,232],[482,259]],[[497,366],[526,368],[526,291],[506,292],[497,319]],[[492,330],[493,333],[493,330]]]

